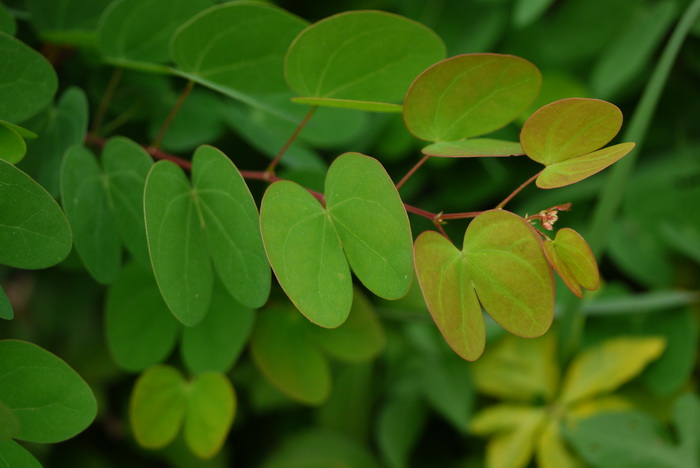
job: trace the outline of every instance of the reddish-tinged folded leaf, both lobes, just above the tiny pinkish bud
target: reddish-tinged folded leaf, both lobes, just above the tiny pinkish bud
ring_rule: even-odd
[[[600,149],[621,126],[620,109],[598,99],[562,99],[540,108],[520,132],[525,154],[546,166],[537,186],[547,189],[576,183],[625,156],[634,143]]]

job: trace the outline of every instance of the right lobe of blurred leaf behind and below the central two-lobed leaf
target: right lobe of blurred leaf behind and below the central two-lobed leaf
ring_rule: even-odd
[[[348,362],[364,362],[377,357],[386,337],[372,303],[356,290],[347,320],[338,328],[311,328],[314,341],[330,356]]]

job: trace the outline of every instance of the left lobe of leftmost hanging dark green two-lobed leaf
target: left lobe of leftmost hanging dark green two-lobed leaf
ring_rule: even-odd
[[[119,232],[106,191],[106,178],[90,150],[82,146],[68,150],[61,168],[63,210],[78,256],[102,284],[114,281],[122,261]]]

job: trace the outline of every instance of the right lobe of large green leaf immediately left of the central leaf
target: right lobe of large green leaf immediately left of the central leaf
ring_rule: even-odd
[[[258,209],[243,177],[221,151],[201,146],[194,154],[192,183],[219,277],[239,302],[262,306],[270,294],[270,267]]]

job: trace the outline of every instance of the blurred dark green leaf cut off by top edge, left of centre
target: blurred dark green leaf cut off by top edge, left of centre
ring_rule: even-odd
[[[209,0],[120,0],[100,18],[100,51],[119,62],[166,63],[169,41],[182,23],[211,6]]]

